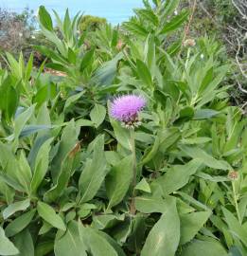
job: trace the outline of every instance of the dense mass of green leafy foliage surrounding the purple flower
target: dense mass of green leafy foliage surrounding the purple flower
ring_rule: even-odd
[[[232,64],[214,38],[187,36],[179,0],[152,2],[82,33],[79,14],[55,12],[54,27],[41,7],[44,62],[5,53],[0,255],[247,255],[247,119],[230,103]],[[147,104],[135,128],[110,111],[128,94]]]

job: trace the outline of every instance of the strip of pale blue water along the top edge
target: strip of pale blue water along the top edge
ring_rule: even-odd
[[[26,7],[36,10],[40,5],[49,11],[55,9],[61,16],[66,8],[72,15],[81,10],[84,14],[105,17],[115,25],[128,20],[132,9],[142,6],[142,0],[0,0],[0,8],[17,12]]]

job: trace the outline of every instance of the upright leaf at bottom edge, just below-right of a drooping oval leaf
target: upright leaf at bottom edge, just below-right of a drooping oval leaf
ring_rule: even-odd
[[[83,240],[79,235],[79,226],[72,221],[62,237],[57,237],[54,245],[56,256],[86,256]]]

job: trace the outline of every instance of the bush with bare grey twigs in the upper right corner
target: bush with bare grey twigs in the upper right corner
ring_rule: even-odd
[[[188,6],[187,1],[184,1],[184,6]],[[225,46],[232,63],[229,76],[229,84],[233,85],[231,99],[237,105],[246,101],[246,14],[244,1],[203,0],[197,3],[189,31],[190,36],[195,38],[205,34],[214,36]]]

